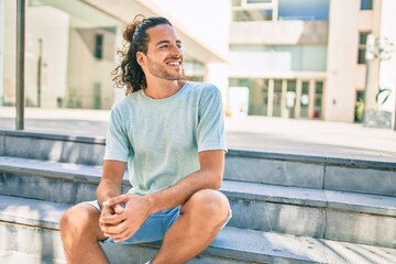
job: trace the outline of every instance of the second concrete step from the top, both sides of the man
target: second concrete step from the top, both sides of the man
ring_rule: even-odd
[[[99,166],[0,157],[0,195],[77,204],[96,199],[100,175]],[[231,227],[396,248],[395,197],[235,180],[221,191]]]

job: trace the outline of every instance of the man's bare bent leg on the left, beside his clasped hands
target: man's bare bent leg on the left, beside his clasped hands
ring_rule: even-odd
[[[64,212],[59,226],[67,263],[108,263],[98,243],[106,239],[99,228],[99,216],[89,205],[77,205]]]

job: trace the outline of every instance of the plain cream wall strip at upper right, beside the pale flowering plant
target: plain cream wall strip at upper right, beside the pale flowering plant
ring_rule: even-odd
[[[355,91],[364,89],[361,87],[364,75],[359,74],[362,66],[358,65],[359,31],[373,24],[373,11],[361,12],[360,0],[330,1],[326,120],[354,120]],[[375,63],[372,68],[375,68]],[[375,80],[374,76],[371,80]]]

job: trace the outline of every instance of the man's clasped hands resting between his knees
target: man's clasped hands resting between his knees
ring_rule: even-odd
[[[103,202],[99,227],[106,237],[121,242],[133,235],[150,215],[145,196],[121,195]]]

